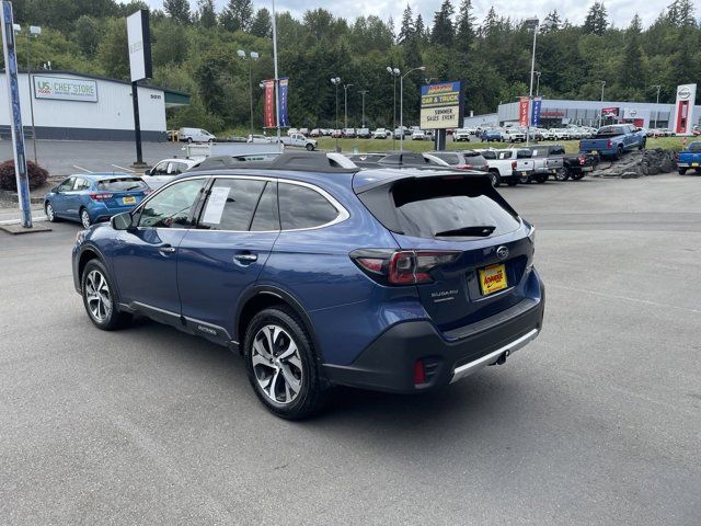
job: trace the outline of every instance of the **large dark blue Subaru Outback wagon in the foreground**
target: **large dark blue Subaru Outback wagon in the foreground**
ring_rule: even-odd
[[[533,243],[483,173],[285,153],[204,161],[80,232],[72,267],[96,327],[138,313],[238,350],[299,419],[334,385],[421,392],[504,363],[541,330]]]

